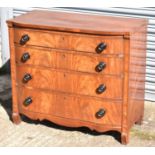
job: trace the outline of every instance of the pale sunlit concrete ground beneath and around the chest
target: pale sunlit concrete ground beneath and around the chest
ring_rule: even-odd
[[[87,128],[64,128],[27,118],[14,125],[10,115],[10,76],[0,75],[0,146],[124,146],[114,132],[98,134]],[[155,146],[155,103],[145,103],[143,125],[132,128],[127,146]]]

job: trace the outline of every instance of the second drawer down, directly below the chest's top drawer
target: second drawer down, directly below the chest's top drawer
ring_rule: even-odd
[[[46,48],[15,47],[16,62],[24,65],[52,67],[80,72],[119,75],[123,73],[123,58],[94,56],[75,51]]]

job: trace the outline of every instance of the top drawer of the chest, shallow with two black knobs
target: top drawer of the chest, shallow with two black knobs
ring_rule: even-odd
[[[18,44],[22,42],[22,46],[34,45],[98,54],[123,53],[123,36],[96,36],[15,28],[14,40]]]

